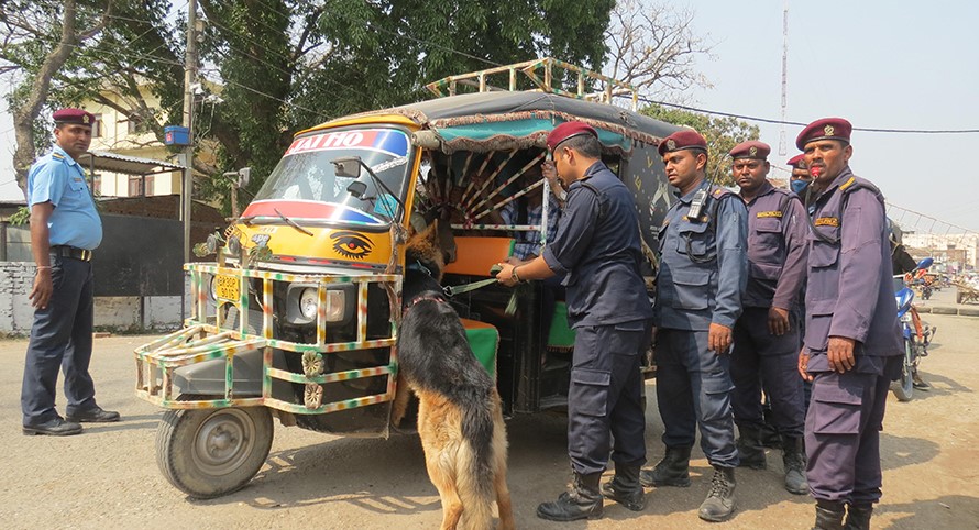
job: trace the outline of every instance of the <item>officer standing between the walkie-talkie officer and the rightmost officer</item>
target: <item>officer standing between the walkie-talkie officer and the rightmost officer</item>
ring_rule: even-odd
[[[805,416],[796,369],[799,325],[792,312],[805,283],[809,222],[799,197],[768,181],[769,153],[768,144],[755,140],[730,151],[732,173],[748,207],[748,286],[734,329],[732,405],[740,431],[740,465],[763,470],[763,382],[770,420],[781,435],[785,489],[803,495],[809,493],[802,449]]]

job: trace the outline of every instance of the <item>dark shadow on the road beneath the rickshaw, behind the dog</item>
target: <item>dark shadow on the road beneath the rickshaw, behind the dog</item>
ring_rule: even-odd
[[[557,496],[570,476],[564,442],[565,420],[547,415],[521,416],[507,422],[509,472],[515,504]],[[277,429],[276,434],[282,434]],[[527,492],[520,474],[561,463],[553,492]],[[517,475],[515,477],[515,475]],[[544,496],[548,498],[540,498]],[[432,500],[432,497],[435,499]],[[377,514],[438,511],[438,492],[429,482],[417,434],[393,434],[388,440],[340,438],[299,449],[273,452],[266,467],[244,489],[201,506],[244,503],[260,509],[287,509],[345,503]],[[355,521],[346,521],[355,523]]]

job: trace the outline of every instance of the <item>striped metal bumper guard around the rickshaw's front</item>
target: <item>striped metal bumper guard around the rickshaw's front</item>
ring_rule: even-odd
[[[212,407],[243,407],[264,405],[278,410],[300,415],[318,415],[364,407],[378,402],[391,401],[395,394],[395,379],[398,372],[397,354],[394,347],[397,343],[396,314],[391,316],[391,338],[367,340],[367,288],[370,284],[382,284],[388,294],[397,302],[397,292],[400,292],[402,277],[399,275],[371,274],[360,276],[334,275],[304,275],[284,274],[266,270],[241,269],[221,267],[217,264],[186,264],[184,266],[190,273],[191,285],[191,316],[185,322],[184,329],[169,333],[135,351],[136,356],[136,395],[155,405],[170,409],[195,409]],[[208,308],[208,281],[215,276],[238,277],[240,299],[238,301],[221,301],[213,308],[213,314]],[[249,279],[261,279],[261,309],[262,328],[261,335],[249,332]],[[276,339],[273,336],[273,285],[275,281],[304,283],[317,286],[317,342],[315,344],[297,343]],[[328,343],[326,325],[323,325],[327,311],[327,286],[330,284],[356,284],[356,322],[358,339],[353,342]],[[257,289],[256,289],[257,290]],[[256,292],[256,295],[258,295]],[[235,329],[224,329],[222,325],[221,306],[232,305],[238,308],[239,321]],[[399,307],[399,303],[395,307]],[[213,323],[210,323],[213,322]],[[350,369],[336,373],[323,373],[326,363],[323,355],[336,352],[354,350],[369,350],[376,347],[391,347],[392,353],[388,364],[360,369]],[[263,351],[262,396],[237,398],[233,394],[234,356],[249,350]],[[289,354],[302,356],[302,374],[293,373],[273,367],[273,350],[282,350]],[[224,395],[218,399],[178,400],[174,389],[174,369],[215,358],[224,360]],[[363,396],[340,401],[329,401],[326,398],[323,385],[341,380],[362,379],[367,377],[387,376],[386,389],[383,394]],[[273,379],[306,385],[302,405],[284,401],[272,397]]]

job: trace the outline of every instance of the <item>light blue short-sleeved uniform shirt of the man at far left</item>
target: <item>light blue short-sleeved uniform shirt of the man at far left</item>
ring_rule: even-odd
[[[28,174],[28,205],[51,202],[47,220],[52,245],[94,250],[102,242],[102,220],[96,211],[81,167],[58,146],[42,156]]]

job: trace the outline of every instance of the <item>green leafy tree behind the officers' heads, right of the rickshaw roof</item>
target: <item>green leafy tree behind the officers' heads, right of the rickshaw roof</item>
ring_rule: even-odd
[[[707,140],[707,178],[724,186],[734,186],[732,159],[727,154],[735,145],[748,140],[758,140],[758,125],[729,117],[712,117],[700,112],[650,104],[641,113],[674,125],[685,125],[696,130]]]

